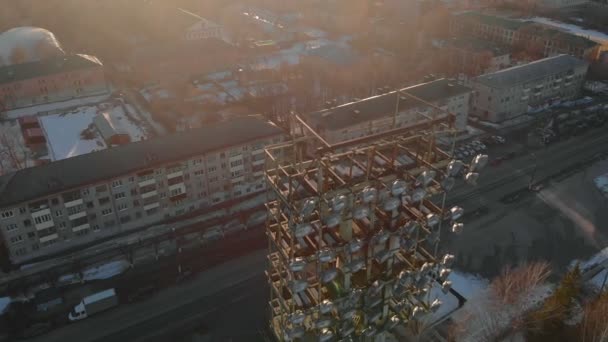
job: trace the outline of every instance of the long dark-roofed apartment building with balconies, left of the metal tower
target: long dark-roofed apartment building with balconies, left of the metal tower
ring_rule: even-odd
[[[263,191],[276,126],[241,117],[0,176],[13,263]]]

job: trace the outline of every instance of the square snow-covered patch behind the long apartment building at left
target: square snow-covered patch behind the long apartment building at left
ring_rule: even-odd
[[[103,150],[106,144],[92,127],[97,107],[79,107],[70,112],[40,117],[53,161]],[[90,128],[89,128],[90,127]],[[90,134],[83,136],[84,131]]]

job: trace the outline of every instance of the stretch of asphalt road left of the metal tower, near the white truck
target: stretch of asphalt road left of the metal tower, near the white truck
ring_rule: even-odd
[[[175,331],[199,323],[210,327],[216,336],[253,334],[256,326],[263,325],[259,320],[264,318],[267,295],[265,265],[266,251],[257,251],[209,269],[145,301],[121,305],[31,341],[167,341],[167,336],[174,336]],[[239,324],[229,325],[228,319],[238,320]]]

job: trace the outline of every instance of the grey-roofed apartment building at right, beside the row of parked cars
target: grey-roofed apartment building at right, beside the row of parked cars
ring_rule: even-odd
[[[472,115],[501,122],[580,95],[589,64],[569,55],[485,74],[472,80]]]

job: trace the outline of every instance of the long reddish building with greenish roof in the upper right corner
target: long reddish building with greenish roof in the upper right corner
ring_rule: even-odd
[[[480,12],[452,16],[450,30],[457,36],[474,36],[512,47],[539,50],[544,57],[569,54],[586,60],[599,57],[601,45],[539,23],[503,18]]]

